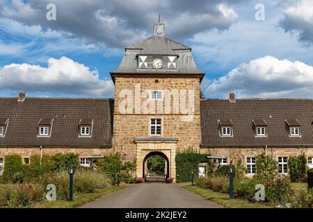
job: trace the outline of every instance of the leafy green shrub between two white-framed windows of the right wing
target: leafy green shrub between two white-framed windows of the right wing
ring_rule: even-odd
[[[274,182],[278,178],[278,163],[265,153],[257,156],[255,178],[262,182]]]

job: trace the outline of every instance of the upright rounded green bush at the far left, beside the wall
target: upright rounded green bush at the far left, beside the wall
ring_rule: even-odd
[[[3,182],[22,182],[24,167],[20,155],[6,155],[4,157]]]

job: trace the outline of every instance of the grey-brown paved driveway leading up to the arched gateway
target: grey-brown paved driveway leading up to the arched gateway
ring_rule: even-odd
[[[83,208],[219,208],[220,205],[182,188],[179,184],[146,182],[87,203]]]

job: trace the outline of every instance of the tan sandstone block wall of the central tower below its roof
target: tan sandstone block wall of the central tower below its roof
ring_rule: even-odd
[[[159,83],[156,83],[156,80]],[[135,90],[140,84],[140,94],[147,90],[172,90],[192,89],[194,91],[194,112],[191,121],[182,121],[186,116],[173,112],[173,96],[170,97],[170,113],[156,112],[143,114],[136,113],[136,104],[133,102],[132,109],[127,114],[120,111],[120,104],[123,104],[126,97],[120,96],[122,89],[128,89],[135,96]],[[136,86],[136,87],[135,87]],[[188,94],[186,108],[188,108]],[[141,105],[147,101],[147,97],[141,98]],[[163,101],[165,99],[163,98]],[[134,98],[133,98],[134,101]],[[180,102],[180,101],[179,101]],[[162,119],[162,137],[178,137],[177,150],[186,149],[192,146],[199,149],[200,145],[200,80],[198,78],[115,78],[115,101],[114,101],[114,127],[113,127],[113,147],[115,152],[126,153],[127,160],[136,158],[136,144],[134,137],[149,137],[150,118],[159,117]],[[156,107],[157,107],[156,102]],[[124,103],[125,104],[125,103]],[[138,103],[137,103],[138,104]],[[164,105],[164,103],[163,103]],[[164,108],[164,106],[163,106]]]

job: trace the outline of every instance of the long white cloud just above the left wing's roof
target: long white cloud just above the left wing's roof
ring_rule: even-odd
[[[114,91],[111,80],[100,79],[97,70],[67,57],[49,58],[47,67],[6,65],[0,69],[0,88],[79,96],[113,96]]]

